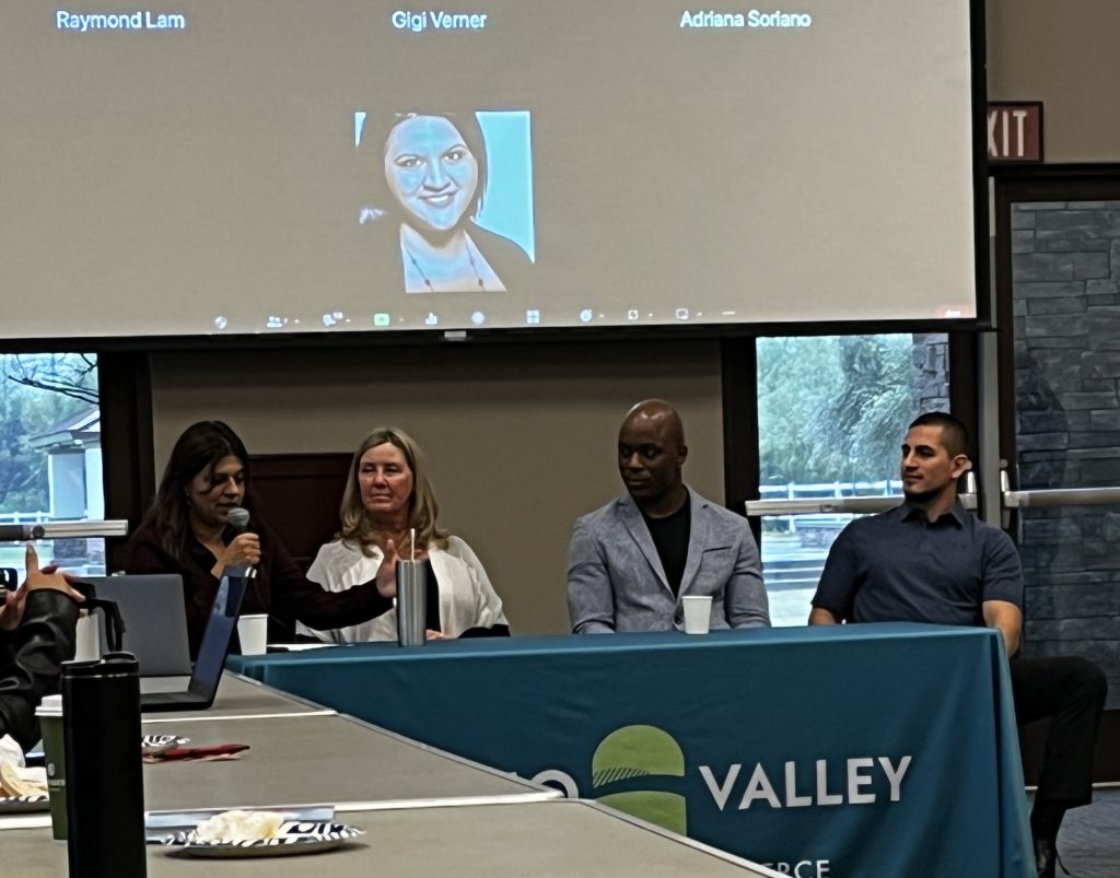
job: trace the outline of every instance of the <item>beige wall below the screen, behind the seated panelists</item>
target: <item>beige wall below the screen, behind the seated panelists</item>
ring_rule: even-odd
[[[152,370],[159,471],[211,418],[251,454],[351,451],[380,424],[412,433],[440,522],[482,558],[516,633],[569,629],[571,525],[622,492],[615,443],[634,402],[680,408],[685,478],[724,497],[717,343],[160,353]]]

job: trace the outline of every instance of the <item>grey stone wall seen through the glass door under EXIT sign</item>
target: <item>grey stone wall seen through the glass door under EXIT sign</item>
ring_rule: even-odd
[[[1011,213],[1018,487],[1120,485],[1120,202]],[[1120,706],[1120,506],[1024,510],[1028,654],[1092,658]]]

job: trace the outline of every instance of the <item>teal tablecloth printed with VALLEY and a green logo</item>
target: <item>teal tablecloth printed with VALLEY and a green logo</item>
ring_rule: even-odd
[[[230,666],[799,878],[1034,875],[992,631],[364,644]]]

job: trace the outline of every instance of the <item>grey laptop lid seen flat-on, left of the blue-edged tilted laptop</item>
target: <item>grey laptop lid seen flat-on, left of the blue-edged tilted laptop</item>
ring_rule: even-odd
[[[140,676],[189,676],[190,647],[183,578],[178,573],[88,577],[99,598],[112,600],[124,622],[121,647],[140,662]],[[109,652],[101,614],[101,653]]]

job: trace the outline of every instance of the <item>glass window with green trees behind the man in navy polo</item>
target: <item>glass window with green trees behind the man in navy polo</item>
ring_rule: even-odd
[[[759,338],[763,499],[894,496],[900,431],[949,409],[949,339],[936,335]],[[850,514],[763,519],[774,625],[804,625],[829,547]]]

